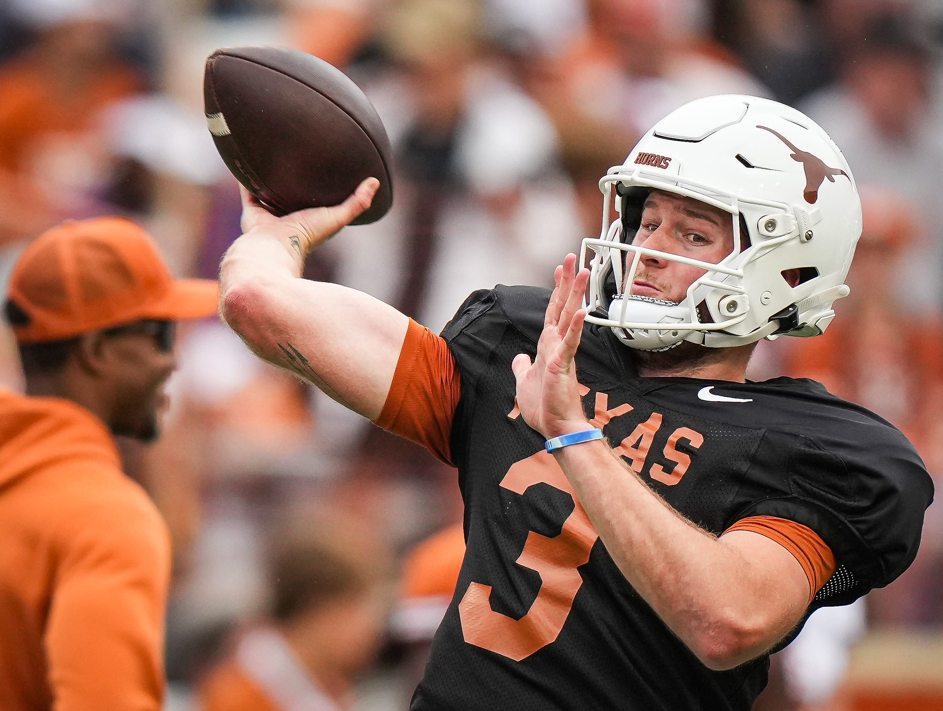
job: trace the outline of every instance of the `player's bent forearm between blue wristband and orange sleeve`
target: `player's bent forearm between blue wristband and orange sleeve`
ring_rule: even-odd
[[[671,510],[604,442],[555,456],[623,575],[704,664],[729,669],[788,632],[763,612],[772,581]]]

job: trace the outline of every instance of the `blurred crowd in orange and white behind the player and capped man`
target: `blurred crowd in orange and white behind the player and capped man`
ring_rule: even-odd
[[[0,279],[43,229],[114,213],[179,275],[215,276],[240,205],[203,62],[241,44],[304,49],[370,96],[393,210],[343,230],[308,276],[434,330],[474,289],[550,282],[600,231],[599,178],[670,110],[750,93],[805,111],[852,165],[864,236],[832,328],[764,343],[752,377],[866,405],[943,482],[943,2],[4,0]],[[168,707],[228,708],[256,669],[281,708],[328,708],[319,686],[405,708],[462,553],[455,471],[217,320],[181,333],[178,360],[164,437],[124,446],[174,538]],[[22,386],[6,332],[0,382]],[[943,708],[943,505],[898,582],[775,655],[757,708]]]

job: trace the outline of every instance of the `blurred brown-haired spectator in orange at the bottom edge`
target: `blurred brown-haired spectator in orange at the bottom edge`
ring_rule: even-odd
[[[379,651],[392,569],[382,540],[338,512],[273,536],[270,618],[201,687],[204,711],[349,708]]]

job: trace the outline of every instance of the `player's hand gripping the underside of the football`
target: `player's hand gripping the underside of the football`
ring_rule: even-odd
[[[376,178],[367,178],[361,182],[354,194],[339,205],[331,208],[311,208],[291,212],[284,217],[276,217],[266,210],[248,190],[240,185],[242,196],[242,231],[243,232],[290,232],[297,236],[295,245],[299,253],[305,256],[311,249],[326,242],[341,228],[353,222],[361,212],[367,210],[373,201],[373,195],[380,187]]]

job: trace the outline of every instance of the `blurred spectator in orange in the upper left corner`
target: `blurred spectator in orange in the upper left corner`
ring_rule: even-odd
[[[61,13],[48,2],[21,5],[41,31],[0,67],[0,243],[96,212],[108,161],[95,121],[141,86],[117,52],[108,12],[92,3]]]

